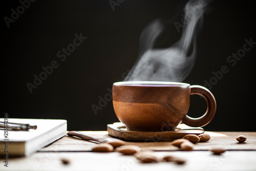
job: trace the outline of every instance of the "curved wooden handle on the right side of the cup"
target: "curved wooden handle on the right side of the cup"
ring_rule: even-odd
[[[205,126],[211,121],[212,118],[214,118],[216,112],[216,100],[214,95],[212,95],[208,89],[202,86],[190,86],[190,90],[190,95],[198,94],[204,97],[207,102],[207,110],[205,114],[199,118],[191,118],[186,115],[182,122],[188,126]]]

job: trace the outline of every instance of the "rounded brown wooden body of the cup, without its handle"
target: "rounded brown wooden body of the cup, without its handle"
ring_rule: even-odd
[[[155,85],[155,84],[153,84]],[[130,86],[113,84],[117,118],[130,131],[174,131],[185,118],[190,104],[189,84]]]

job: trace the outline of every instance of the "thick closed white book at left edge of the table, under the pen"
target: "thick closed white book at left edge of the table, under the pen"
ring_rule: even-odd
[[[28,156],[67,134],[67,120],[8,118],[8,122],[37,125],[37,129],[0,130],[0,156]]]

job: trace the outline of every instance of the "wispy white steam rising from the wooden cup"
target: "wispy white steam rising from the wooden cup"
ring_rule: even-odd
[[[172,47],[153,48],[156,39],[165,29],[160,19],[147,26],[140,38],[141,57],[124,81],[182,82],[196,61],[196,30],[198,24],[202,24],[205,6],[203,0],[189,1],[186,4],[182,35]]]

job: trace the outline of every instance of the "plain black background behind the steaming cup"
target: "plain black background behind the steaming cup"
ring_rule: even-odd
[[[116,2],[116,1],[115,1]],[[119,1],[121,2],[121,1]],[[68,130],[106,130],[106,124],[117,122],[112,101],[97,111],[99,97],[109,93],[113,82],[134,65],[139,53],[142,30],[154,19],[177,17],[181,23],[182,8],[187,1],[124,0],[114,11],[109,1],[35,1],[19,15],[10,27],[4,20],[17,11],[19,1],[5,1],[2,11],[2,55],[0,117],[7,112],[11,118],[67,119]],[[249,2],[249,1],[248,1]],[[197,61],[183,81],[204,86],[212,72],[227,66],[210,88],[217,101],[215,118],[204,127],[206,131],[256,131],[255,49],[237,61],[227,62],[232,53],[243,49],[245,39],[256,41],[255,8],[246,1],[214,1],[204,15],[197,39]],[[172,26],[170,41],[181,35]],[[75,34],[87,37],[67,59],[61,61],[57,52],[73,43]],[[29,92],[42,67],[56,60],[58,68]],[[189,115],[201,116],[206,103],[199,96],[191,97]],[[2,115],[2,116],[1,116]]]

